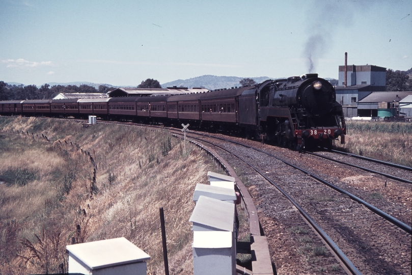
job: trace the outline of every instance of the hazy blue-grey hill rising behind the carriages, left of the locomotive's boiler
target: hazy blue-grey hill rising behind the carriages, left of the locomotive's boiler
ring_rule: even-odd
[[[204,87],[209,90],[215,89],[224,89],[224,88],[231,88],[231,87],[239,87],[239,81],[246,77],[237,77],[237,76],[216,76],[216,75],[202,75],[198,77],[193,77],[189,79],[178,79],[175,81],[163,83],[161,85],[162,88],[167,87]],[[275,79],[270,78],[267,76],[260,76],[260,77],[249,77],[254,79],[256,82],[261,83],[267,79]]]

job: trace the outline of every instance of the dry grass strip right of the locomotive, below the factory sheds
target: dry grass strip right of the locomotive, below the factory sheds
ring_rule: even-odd
[[[338,149],[412,167],[412,123],[347,121],[346,144]]]

